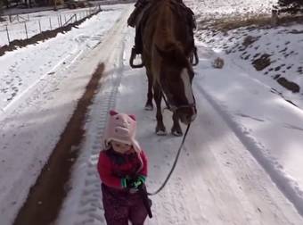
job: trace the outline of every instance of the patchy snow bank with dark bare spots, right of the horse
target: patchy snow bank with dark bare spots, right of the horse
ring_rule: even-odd
[[[232,59],[229,63],[236,64],[243,71],[250,71],[251,78],[273,88],[273,92],[303,109],[302,32],[302,25],[291,25],[273,29],[232,29],[225,34],[200,30],[197,37],[201,45],[212,48],[217,55],[228,53]],[[264,54],[269,55],[270,62],[261,71],[256,71],[251,64]],[[292,92],[278,83],[282,78],[300,88]]]

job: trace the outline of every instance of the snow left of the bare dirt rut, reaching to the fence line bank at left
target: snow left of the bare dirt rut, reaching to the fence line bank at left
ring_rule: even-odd
[[[79,29],[0,57],[1,225],[12,224],[100,63],[90,52],[120,14],[112,6]]]

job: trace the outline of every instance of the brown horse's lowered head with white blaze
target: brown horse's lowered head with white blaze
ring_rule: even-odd
[[[181,122],[189,124],[197,114],[192,93],[192,64],[176,43],[164,50],[156,46],[156,50],[162,59],[158,79],[162,92],[167,96],[168,106]]]

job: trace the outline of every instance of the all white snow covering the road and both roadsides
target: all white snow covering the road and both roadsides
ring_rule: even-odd
[[[187,4],[196,13],[225,14],[230,9],[247,12],[248,7],[259,12],[273,3],[211,2]],[[0,57],[1,225],[12,224],[100,62],[106,65],[105,75],[90,108],[86,138],[71,175],[72,188],[56,224],[105,224],[95,164],[111,108],[137,117],[137,138],[150,160],[149,191],[160,187],[168,175],[181,138],[156,136],[155,112],[143,110],[144,70],[128,65],[134,29],[127,28],[126,20],[133,5],[102,7],[108,11],[78,29]],[[293,64],[284,76],[302,86],[294,74],[302,60],[301,38],[287,32],[292,29],[302,26],[235,29],[215,37],[197,32],[200,63],[194,68],[193,92],[198,117],[176,171],[162,192],[151,196],[154,218],[147,224],[303,224],[302,95],[278,85],[271,78],[274,72],[265,76],[264,71],[256,71],[252,56],[244,59],[256,54],[253,48],[244,57],[241,51],[224,51],[234,50],[245,34],[259,37],[254,45],[264,53],[273,51],[272,66]],[[287,41],[288,51],[298,54],[284,61],[279,52]],[[217,56],[225,60],[221,70],[212,67]],[[164,122],[169,130],[170,112],[164,112]]]

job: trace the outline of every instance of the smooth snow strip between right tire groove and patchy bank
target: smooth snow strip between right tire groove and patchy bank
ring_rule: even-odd
[[[228,57],[225,64],[222,71],[209,64],[209,69],[197,76],[198,86],[205,89],[247,150],[302,214],[303,112],[251,78],[252,68],[242,70]]]

